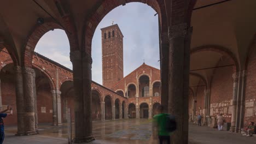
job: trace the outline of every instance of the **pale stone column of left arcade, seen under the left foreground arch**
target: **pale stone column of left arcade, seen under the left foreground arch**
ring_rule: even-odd
[[[58,125],[61,123],[61,98],[60,91],[53,90],[53,125]]]

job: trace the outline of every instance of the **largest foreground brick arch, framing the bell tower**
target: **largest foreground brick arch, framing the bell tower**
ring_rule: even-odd
[[[152,7],[158,14],[159,14],[159,20],[160,23],[162,23],[162,17],[166,18],[165,13],[165,5],[163,0],[151,0],[151,1],[144,1],[144,0],[126,0],[125,3],[131,3],[131,2],[141,2],[149,5]],[[159,4],[161,3],[161,4]],[[119,7],[122,5],[119,0],[106,0],[103,1],[99,6],[92,10],[92,15],[86,17],[85,25],[84,25],[84,39],[85,39],[85,52],[91,55],[91,42],[92,37],[94,35],[95,29],[97,28],[98,24],[101,22],[104,16],[106,16],[111,10],[114,8]],[[165,16],[162,16],[165,15]],[[167,23],[167,20],[165,19],[165,22]]]

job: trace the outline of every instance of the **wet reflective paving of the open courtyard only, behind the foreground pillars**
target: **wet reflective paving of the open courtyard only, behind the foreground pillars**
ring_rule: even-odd
[[[42,136],[67,139],[67,124],[57,127],[50,124],[39,124],[38,130]],[[92,131],[95,139],[100,143],[157,143],[151,137],[152,121],[149,119],[95,121]],[[15,134],[16,126],[7,126],[5,133]],[[72,125],[72,134],[74,134],[74,125]]]

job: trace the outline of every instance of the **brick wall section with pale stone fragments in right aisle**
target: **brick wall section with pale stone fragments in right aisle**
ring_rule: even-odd
[[[228,57],[220,58],[217,66],[232,64]],[[231,121],[231,105],[233,94],[233,67],[216,68],[211,82],[210,115],[223,113],[227,122]]]

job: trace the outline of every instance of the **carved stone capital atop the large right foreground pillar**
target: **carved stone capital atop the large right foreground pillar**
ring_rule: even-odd
[[[181,23],[179,25],[168,27],[169,40],[178,37],[185,37],[188,31],[187,23]]]

